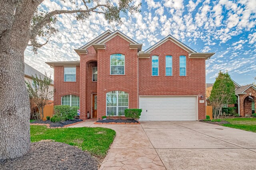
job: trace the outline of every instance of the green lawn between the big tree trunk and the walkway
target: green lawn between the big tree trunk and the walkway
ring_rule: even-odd
[[[94,156],[103,158],[114,141],[116,132],[102,127],[49,129],[46,126],[30,125],[30,135],[31,142],[50,139],[76,146]]]

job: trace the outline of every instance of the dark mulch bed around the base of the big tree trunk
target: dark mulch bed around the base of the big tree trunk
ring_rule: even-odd
[[[28,154],[0,162],[1,170],[97,170],[98,162],[89,153],[50,140],[31,144]]]

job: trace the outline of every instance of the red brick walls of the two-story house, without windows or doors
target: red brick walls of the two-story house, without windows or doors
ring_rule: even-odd
[[[66,94],[80,96],[80,117],[91,114],[92,93],[97,93],[97,117],[106,115],[106,93],[114,90],[127,92],[128,107],[138,108],[141,95],[198,96],[198,119],[205,119],[205,59],[189,58],[188,52],[168,40],[153,51],[150,58],[138,58],[138,50],[116,35],[105,43],[106,49],[87,48],[76,66],[76,82],[64,82],[64,66],[54,66],[54,105],[61,104]],[[110,75],[110,55],[125,55],[125,75]],[[152,76],[152,55],[159,56],[159,76]],[[172,55],[172,76],[165,76],[165,56]],[[186,76],[179,76],[179,56],[186,56]],[[98,67],[98,81],[92,82],[92,66]],[[202,98],[200,96],[203,96]]]

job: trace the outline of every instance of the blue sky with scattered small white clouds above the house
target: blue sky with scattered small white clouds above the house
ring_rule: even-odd
[[[77,0],[82,6],[82,0]],[[102,0],[104,1],[104,0]],[[113,3],[118,0],[113,0]],[[238,84],[253,82],[256,76],[256,0],[134,0],[142,2],[141,13],[128,18],[122,15],[123,25],[116,27],[147,49],[171,34],[197,52],[215,52],[206,61],[206,82],[212,83],[218,71],[228,70]],[[70,9],[67,0],[44,0],[46,11]],[[74,7],[75,8],[75,7]],[[58,17],[59,33],[34,55],[31,47],[25,51],[25,62],[40,72],[53,74],[46,61],[74,61],[77,49],[113,27],[102,14],[92,14],[85,22],[73,15]],[[44,42],[43,39],[40,39]]]

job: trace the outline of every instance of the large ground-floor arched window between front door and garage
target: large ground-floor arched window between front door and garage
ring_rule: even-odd
[[[128,109],[128,93],[123,91],[112,91],[106,94],[106,115],[123,116],[124,109]]]

